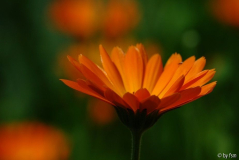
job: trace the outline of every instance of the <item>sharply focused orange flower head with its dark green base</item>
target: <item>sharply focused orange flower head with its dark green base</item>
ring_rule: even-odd
[[[103,68],[83,55],[79,55],[79,62],[68,56],[85,80],[62,81],[113,105],[129,128],[145,130],[166,111],[210,93],[216,85],[216,82],[205,85],[215,70],[203,70],[204,57],[195,60],[192,56],[182,62],[180,54],[175,53],[163,68],[160,55],[148,60],[141,44],[129,47],[126,54],[115,47],[111,57],[101,45],[99,49]],[[139,120],[145,122],[143,126],[139,126]]]

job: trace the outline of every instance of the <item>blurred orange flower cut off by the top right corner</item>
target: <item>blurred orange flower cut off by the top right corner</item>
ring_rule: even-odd
[[[217,19],[226,24],[239,27],[238,0],[212,0],[211,7]]]

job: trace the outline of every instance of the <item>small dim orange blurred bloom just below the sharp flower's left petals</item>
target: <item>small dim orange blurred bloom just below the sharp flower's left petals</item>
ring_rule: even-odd
[[[93,100],[88,104],[88,112],[94,124],[104,126],[114,121],[115,110],[114,108],[101,100]]]

